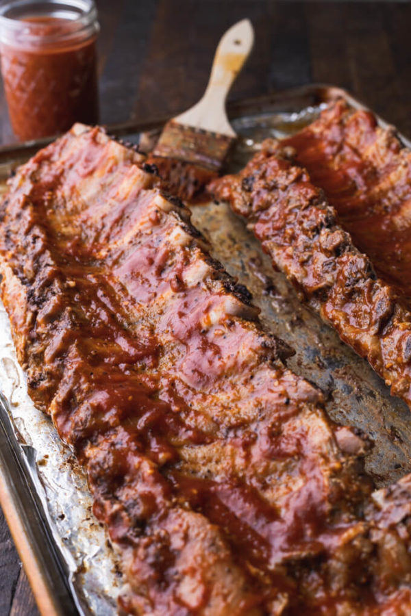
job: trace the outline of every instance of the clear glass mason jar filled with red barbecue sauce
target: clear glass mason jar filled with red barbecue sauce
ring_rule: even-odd
[[[0,1],[1,73],[21,140],[99,118],[93,0]]]

